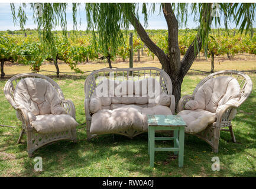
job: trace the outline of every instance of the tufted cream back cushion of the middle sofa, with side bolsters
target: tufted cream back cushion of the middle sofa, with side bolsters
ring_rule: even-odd
[[[114,90],[111,92],[109,91],[111,89]],[[107,91],[103,92],[103,90]],[[148,90],[151,96],[147,94]],[[157,90],[160,90],[160,92],[157,92]],[[101,102],[95,99],[90,101],[89,110],[91,113],[95,113],[100,109],[116,109],[124,105],[140,105],[142,107],[162,105],[170,107],[171,102],[170,96],[163,92],[159,82],[152,77],[122,82],[108,79],[102,80],[90,98],[101,99]]]

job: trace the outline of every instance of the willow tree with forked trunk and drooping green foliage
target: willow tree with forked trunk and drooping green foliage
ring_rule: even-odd
[[[21,28],[27,21],[25,14],[25,6],[21,4],[18,14],[15,14],[15,6],[11,4],[14,21],[20,23]],[[72,4],[74,29],[77,26],[77,7],[81,4]],[[140,4],[126,3],[97,3],[85,4],[86,17],[88,22],[88,30],[93,31],[93,40],[98,40],[98,47],[103,49],[103,56],[116,54],[118,46],[124,43],[122,30],[128,30],[131,24],[141,40],[151,52],[158,57],[163,70],[168,73],[173,83],[173,94],[176,97],[176,105],[181,96],[181,86],[183,78],[192,66],[197,54],[201,48],[205,48],[207,53],[209,31],[213,24],[217,27],[221,24],[221,19],[216,17],[216,11],[222,15],[225,28],[228,30],[229,22],[235,22],[236,27],[240,25],[241,33],[252,29],[252,21],[254,21],[255,4],[161,4],[161,12],[164,14],[168,27],[168,51],[158,47],[145,31],[147,27],[148,14],[154,14],[155,4],[142,4],[142,14],[144,15],[144,26],[140,23],[138,10]],[[34,10],[34,21],[38,25],[38,33],[44,44],[51,47],[54,46],[53,28],[60,25],[63,35],[66,35],[67,21],[66,10],[68,4],[30,4]],[[38,8],[39,7],[39,8]],[[38,14],[40,12],[40,14]],[[193,15],[195,22],[198,23],[197,32],[193,42],[187,48],[184,57],[181,60],[178,31],[179,25],[186,25],[187,18]],[[96,31],[95,31],[96,30]]]

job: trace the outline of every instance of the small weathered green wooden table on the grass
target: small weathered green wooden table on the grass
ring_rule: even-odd
[[[173,151],[179,154],[179,167],[183,167],[184,128],[186,123],[179,115],[147,115],[148,119],[148,153],[150,167],[154,167],[155,151]],[[174,131],[173,137],[155,137],[155,131]],[[155,148],[155,141],[173,140],[174,148]]]

